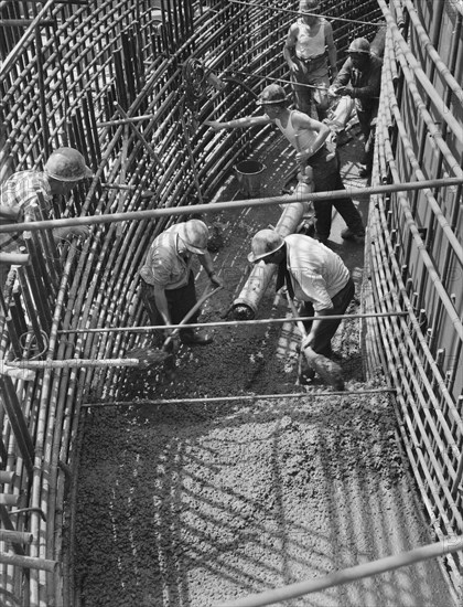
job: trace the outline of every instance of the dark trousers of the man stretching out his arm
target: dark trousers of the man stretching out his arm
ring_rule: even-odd
[[[317,152],[314,157],[309,158],[308,163],[313,169],[313,184],[315,192],[345,190],[340,174],[337,152],[329,156]],[[343,196],[333,200],[313,202],[313,207],[315,210],[315,231],[316,236],[320,239],[325,241],[330,236],[333,206],[343,217],[347,227],[356,236],[365,236],[365,227],[362,221],[362,215],[357,211],[352,198]]]

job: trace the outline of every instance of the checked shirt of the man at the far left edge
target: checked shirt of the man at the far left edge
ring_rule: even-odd
[[[13,173],[4,183],[1,184],[0,204],[2,206],[7,206],[8,209],[19,206],[20,213],[17,221],[22,222],[24,219],[24,213],[28,211],[35,215],[35,211],[32,205],[40,204],[37,199],[39,192],[42,193],[45,202],[51,205],[52,192],[45,173],[37,171],[20,171],[18,173]],[[10,220],[3,220],[2,223],[10,223]],[[3,253],[18,251],[20,244],[20,233],[0,234],[0,251]]]

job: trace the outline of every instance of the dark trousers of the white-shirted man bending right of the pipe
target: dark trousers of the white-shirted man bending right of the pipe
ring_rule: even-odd
[[[334,297],[332,297],[333,308],[330,309],[330,316],[333,315],[343,315],[348,305],[351,303],[355,295],[355,285],[352,278],[348,279],[346,286],[341,289]],[[304,301],[301,306],[301,316],[314,316],[314,309],[311,301]],[[341,319],[333,320],[323,320],[320,323],[320,328],[316,330],[315,339],[312,344],[312,350],[317,354],[323,356],[331,356],[332,348],[331,340],[333,339],[334,333],[336,332],[338,326],[341,324]],[[309,333],[312,328],[312,320],[304,321],[304,327]]]

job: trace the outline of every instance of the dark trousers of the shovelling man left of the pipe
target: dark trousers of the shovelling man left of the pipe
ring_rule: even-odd
[[[144,280],[141,283],[141,298],[150,318],[150,322],[152,324],[163,324],[164,321],[154,301],[154,288],[152,285],[144,283]],[[187,312],[190,312],[197,301],[193,271],[190,273],[189,281],[184,287],[165,290],[165,297],[168,299],[169,313],[171,316],[172,324],[180,324],[180,322],[185,318]],[[190,322],[196,323],[198,316],[200,312],[195,312],[190,319]],[[187,324],[185,324],[185,327],[186,329],[181,329],[179,331],[181,341],[184,341],[185,339],[187,340],[194,333],[191,327],[189,328]],[[161,331],[157,334],[157,339],[163,341]]]

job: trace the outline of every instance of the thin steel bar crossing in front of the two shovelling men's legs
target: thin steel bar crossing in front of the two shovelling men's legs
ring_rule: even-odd
[[[240,327],[243,324],[282,324],[284,322],[295,322],[298,320],[338,320],[346,318],[380,318],[384,316],[409,316],[409,312],[368,312],[359,315],[333,315],[330,317],[314,317],[314,316],[302,316],[302,317],[287,317],[287,318],[265,318],[260,320],[218,320],[216,322],[192,322],[189,323],[192,328],[197,327]],[[68,334],[68,333],[108,333],[108,332],[122,332],[130,331],[134,333],[148,333],[155,330],[165,329],[166,324],[150,324],[146,327],[100,327],[97,329],[63,329],[57,331],[58,334]],[[180,324],[169,324],[170,329],[176,329]],[[10,363],[8,363],[10,364]]]

